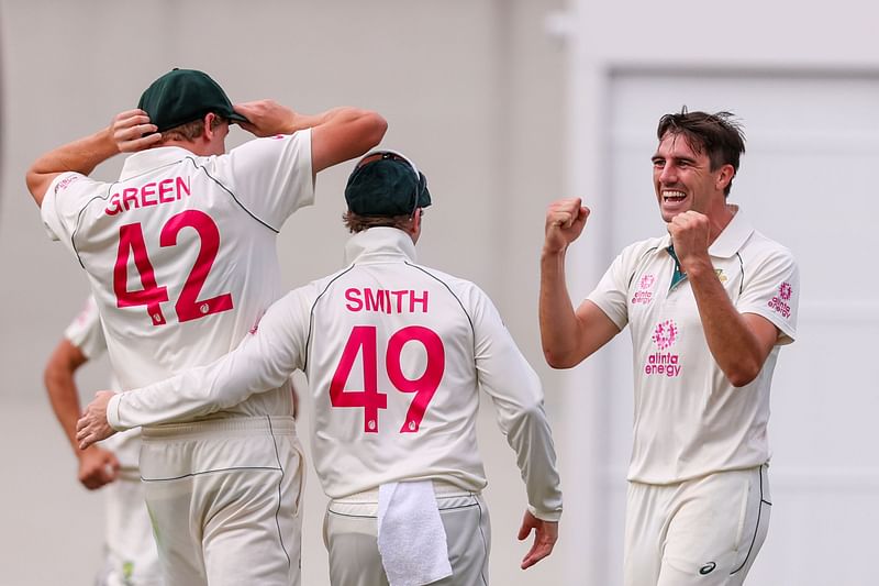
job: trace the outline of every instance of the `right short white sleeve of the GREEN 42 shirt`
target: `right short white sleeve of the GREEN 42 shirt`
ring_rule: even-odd
[[[256,139],[218,159],[238,202],[275,231],[314,201],[311,130]]]

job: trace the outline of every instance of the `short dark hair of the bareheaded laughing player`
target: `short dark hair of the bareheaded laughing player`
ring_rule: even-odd
[[[732,165],[733,177],[738,173],[738,158],[745,152],[745,133],[731,112],[688,112],[685,106],[679,113],[659,119],[656,136],[661,141],[668,133],[682,135],[690,148],[699,154],[708,154],[711,170]],[[732,186],[733,180],[730,179],[724,195],[730,195]]]

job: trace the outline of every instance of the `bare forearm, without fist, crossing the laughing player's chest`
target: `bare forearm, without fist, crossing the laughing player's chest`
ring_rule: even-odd
[[[733,306],[710,263],[689,267],[687,277],[714,362],[734,386],[747,385],[766,360],[757,336]]]

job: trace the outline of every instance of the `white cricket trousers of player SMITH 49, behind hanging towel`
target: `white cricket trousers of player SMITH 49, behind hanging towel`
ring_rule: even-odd
[[[431,586],[487,586],[491,523],[478,493],[434,482],[436,506],[446,531],[452,576]],[[333,586],[388,586],[378,553],[378,489],[331,500],[323,539]]]

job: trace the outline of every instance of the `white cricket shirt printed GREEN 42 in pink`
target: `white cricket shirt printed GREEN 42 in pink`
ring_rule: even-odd
[[[234,349],[282,292],[276,234],[312,202],[311,132],[220,156],[175,146],[130,156],[119,181],[58,176],[43,221],[88,272],[123,389]],[[289,416],[290,387],[213,417]]]

